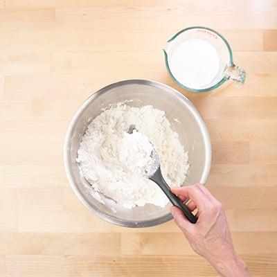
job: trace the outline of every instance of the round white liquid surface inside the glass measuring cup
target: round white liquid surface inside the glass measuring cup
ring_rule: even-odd
[[[220,56],[206,40],[187,39],[173,50],[169,66],[178,82],[191,89],[203,89],[215,79]]]

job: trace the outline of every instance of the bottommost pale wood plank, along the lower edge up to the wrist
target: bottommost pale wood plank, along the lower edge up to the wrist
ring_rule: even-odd
[[[190,264],[184,259],[190,259]],[[201,263],[202,267],[199,267]],[[168,265],[171,265],[168,267]],[[15,276],[157,276],[157,269],[163,267],[159,276],[179,275],[216,276],[210,265],[199,257],[190,256],[120,256],[106,254],[96,256],[18,255],[6,256],[6,272]],[[48,269],[46,272],[45,269]],[[195,275],[195,269],[198,274]]]

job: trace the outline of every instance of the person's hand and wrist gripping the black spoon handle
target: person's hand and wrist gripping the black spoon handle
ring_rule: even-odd
[[[175,223],[193,250],[206,258],[222,276],[250,276],[246,265],[233,247],[223,205],[202,184],[173,187],[171,191],[182,201],[190,199],[187,204],[190,211],[197,208],[195,224],[190,223],[176,206],[170,209]]]

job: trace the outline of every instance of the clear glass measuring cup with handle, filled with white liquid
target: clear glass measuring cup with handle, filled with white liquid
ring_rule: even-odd
[[[163,51],[168,73],[184,89],[211,91],[226,80],[244,84],[246,72],[233,63],[229,43],[215,30],[200,26],[181,30]]]

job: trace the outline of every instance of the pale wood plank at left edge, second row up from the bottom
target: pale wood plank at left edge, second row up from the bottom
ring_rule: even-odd
[[[6,255],[120,255],[120,233],[2,233]],[[71,241],[72,243],[69,243]]]

